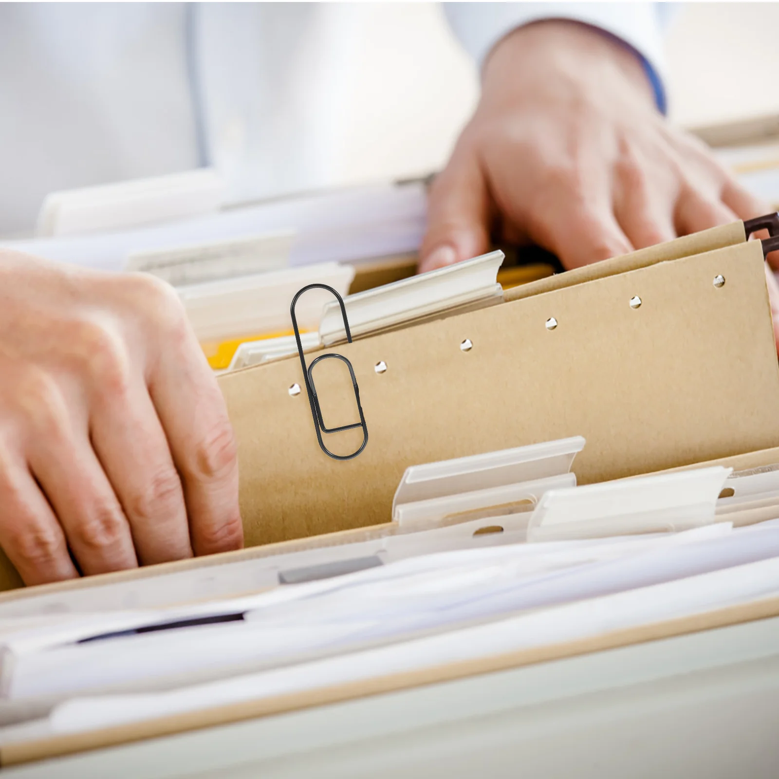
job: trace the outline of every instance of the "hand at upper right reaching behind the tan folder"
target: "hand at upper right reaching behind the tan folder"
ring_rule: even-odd
[[[481,254],[491,234],[573,268],[767,210],[657,111],[632,51],[545,21],[488,58],[478,108],[432,185],[419,270]]]

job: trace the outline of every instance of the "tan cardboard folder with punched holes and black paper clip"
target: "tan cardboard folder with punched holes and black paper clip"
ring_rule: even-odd
[[[320,449],[298,355],[220,377],[247,545],[387,522],[407,467],[494,449],[583,435],[587,484],[779,446],[763,252],[740,222],[330,351],[365,414],[351,460]],[[343,361],[312,377],[328,428],[359,421]]]

